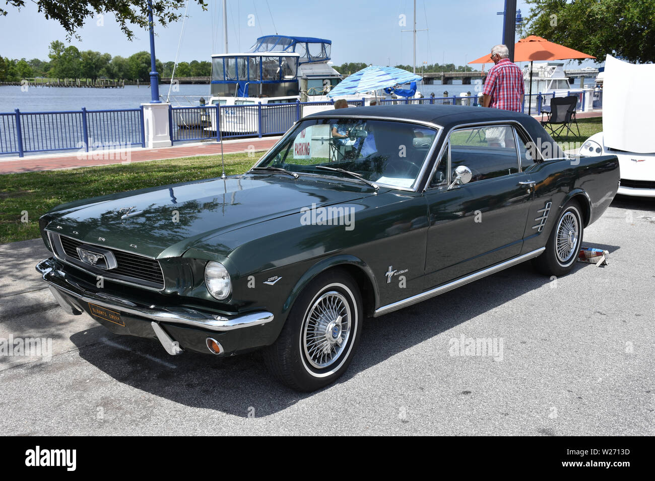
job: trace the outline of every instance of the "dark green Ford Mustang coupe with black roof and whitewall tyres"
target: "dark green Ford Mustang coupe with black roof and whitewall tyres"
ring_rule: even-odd
[[[367,316],[529,259],[569,272],[619,178],[616,156],[567,158],[519,113],[341,109],[243,175],[56,207],[37,270],[69,313],[171,354],[263,347],[310,391],[343,374]]]

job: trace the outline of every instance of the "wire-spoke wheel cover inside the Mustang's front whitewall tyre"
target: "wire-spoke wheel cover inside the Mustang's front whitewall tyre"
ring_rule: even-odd
[[[341,357],[350,338],[351,319],[343,294],[329,291],[316,299],[305,316],[301,340],[310,365],[324,369]]]

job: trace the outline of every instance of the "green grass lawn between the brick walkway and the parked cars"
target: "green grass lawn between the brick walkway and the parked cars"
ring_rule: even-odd
[[[602,119],[578,120],[580,136],[559,143],[582,143],[603,129]],[[243,173],[257,160],[248,154],[225,155],[227,175]],[[134,164],[0,175],[0,243],[39,237],[39,217],[55,205],[144,187],[209,179],[221,175],[219,156],[155,160]],[[27,223],[21,222],[23,211]]]

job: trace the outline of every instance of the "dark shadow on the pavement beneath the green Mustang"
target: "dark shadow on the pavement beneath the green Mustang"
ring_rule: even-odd
[[[591,266],[578,262],[573,273],[586,267]],[[415,306],[367,319],[352,364],[336,383],[322,391],[338,389],[339,384],[367,368],[518,296],[547,288],[549,282],[524,262]],[[104,330],[100,326],[91,330],[96,329]],[[227,358],[192,352],[170,356],[156,340],[105,332],[105,340],[101,338],[96,344],[84,345],[84,332],[73,334],[71,341],[84,360],[118,382],[187,406],[242,417],[254,408],[259,418],[322,392],[297,393],[276,382],[267,372],[260,351]]]

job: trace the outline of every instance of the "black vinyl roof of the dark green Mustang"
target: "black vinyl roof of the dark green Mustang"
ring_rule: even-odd
[[[563,152],[544,130],[541,124],[533,117],[507,110],[491,109],[488,107],[468,107],[466,105],[373,105],[370,107],[348,107],[308,115],[305,118],[348,118],[351,116],[364,116],[369,118],[398,118],[409,122],[431,122],[440,125],[447,132],[461,124],[475,122],[503,122],[514,120],[519,122],[533,141],[540,145],[545,158],[562,157]],[[548,146],[547,149],[544,147]]]

